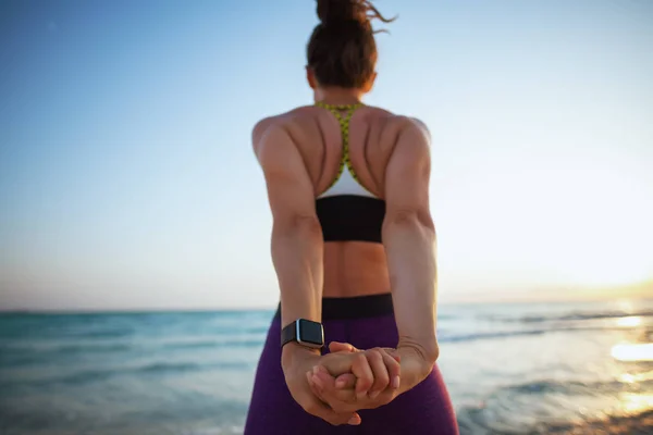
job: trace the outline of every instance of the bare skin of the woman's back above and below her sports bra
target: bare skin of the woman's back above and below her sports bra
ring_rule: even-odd
[[[356,110],[349,122],[349,158],[359,183],[384,199],[384,174],[405,116],[373,107]],[[343,139],[335,116],[318,107],[301,107],[263,120],[254,132],[262,134],[270,125],[283,125],[299,150],[316,198],[337,176],[343,157]],[[258,133],[257,133],[258,132]],[[367,241],[324,244],[324,297],[353,297],[390,291],[383,245]]]

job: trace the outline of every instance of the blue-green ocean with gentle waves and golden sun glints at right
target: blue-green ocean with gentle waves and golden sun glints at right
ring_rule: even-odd
[[[242,434],[272,315],[2,314],[0,434]],[[653,433],[653,300],[442,304],[438,330],[461,434]]]

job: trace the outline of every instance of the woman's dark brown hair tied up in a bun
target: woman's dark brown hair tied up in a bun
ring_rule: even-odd
[[[317,0],[320,24],[306,47],[308,66],[322,86],[364,87],[377,64],[371,20],[386,20],[369,0]]]

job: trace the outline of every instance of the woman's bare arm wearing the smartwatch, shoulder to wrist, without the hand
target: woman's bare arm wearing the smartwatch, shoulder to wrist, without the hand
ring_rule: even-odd
[[[322,228],[315,192],[301,154],[282,125],[263,121],[254,130],[254,147],[263,170],[272,211],[272,262],[281,289],[282,326],[301,318],[321,321],[323,284]],[[286,351],[287,350],[287,351]],[[309,351],[293,344],[288,353]]]

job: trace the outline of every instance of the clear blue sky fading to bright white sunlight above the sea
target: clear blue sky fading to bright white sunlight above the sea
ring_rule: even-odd
[[[440,300],[646,291],[653,2],[375,4],[398,20],[366,102],[431,130]],[[250,132],[312,102],[316,24],[309,0],[2,1],[0,309],[275,306]]]

